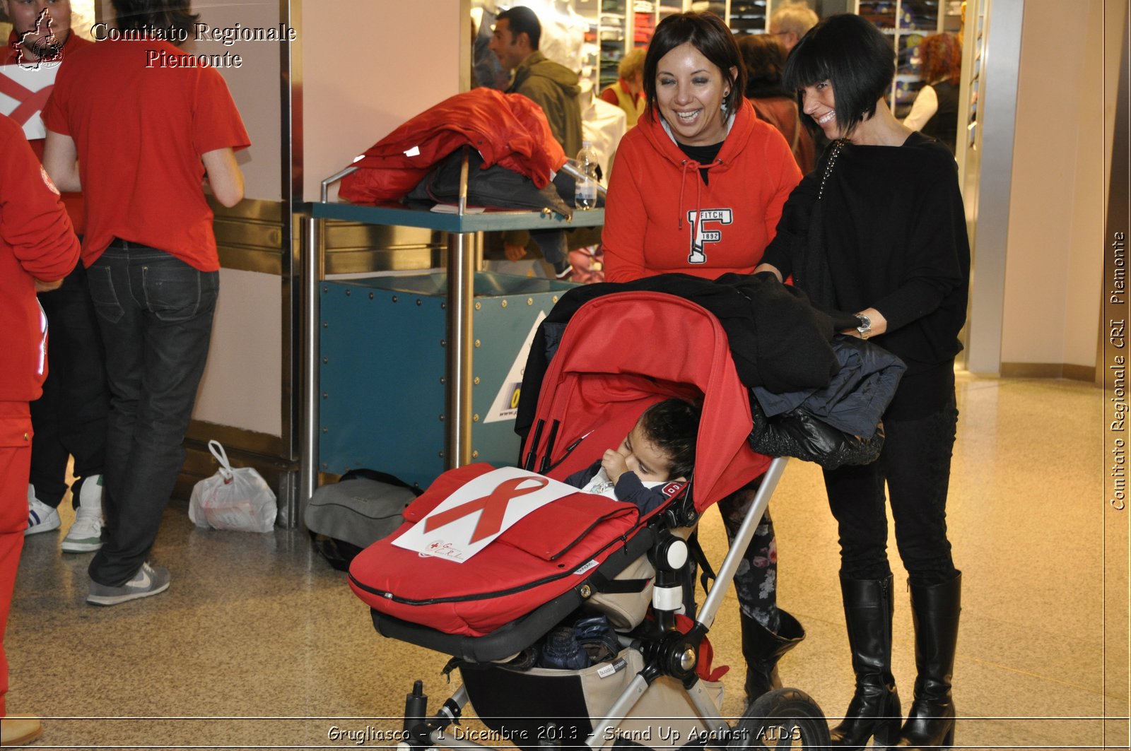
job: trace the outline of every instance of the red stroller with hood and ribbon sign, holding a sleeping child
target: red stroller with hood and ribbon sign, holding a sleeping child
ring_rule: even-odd
[[[681,494],[644,518],[630,503],[573,492],[461,563],[397,547],[399,535],[426,525],[457,489],[492,469],[472,465],[441,475],[395,535],[354,559],[349,584],[371,606],[377,630],[451,655],[463,677],[432,716],[416,682],[405,748],[475,749],[500,740],[520,748],[828,745],[820,708],[796,689],[765,694],[733,725],[720,715],[722,683],[706,635],[786,459],[749,448],[748,391],[714,316],[654,292],[584,304],[543,378],[524,468],[562,480],[620,443],[648,405],[668,397],[702,403],[696,467]],[[759,475],[757,498],[698,615],[677,615],[690,589],[684,582],[693,579],[687,538],[699,515]],[[475,503],[447,513],[478,513],[484,525],[509,512],[490,498]],[[532,645],[578,612],[607,616],[616,654],[581,670],[523,663]],[[486,735],[459,724],[468,701]]]

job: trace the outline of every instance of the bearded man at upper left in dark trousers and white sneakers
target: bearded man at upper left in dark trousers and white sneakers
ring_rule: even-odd
[[[0,64],[19,66],[32,76],[53,77],[70,55],[92,44],[71,32],[69,0],[0,0],[0,8],[12,20],[8,46],[0,51]],[[45,96],[52,88],[53,84],[48,84],[35,95]],[[11,93],[18,96],[20,92]],[[38,111],[23,115],[42,128]],[[32,138],[29,143],[42,159],[44,139]],[[81,235],[81,193],[63,195],[63,205]],[[51,327],[50,368],[43,396],[32,403],[35,438],[25,534],[60,527],[58,509],[67,493],[68,459],[74,457],[78,477],[70,489],[75,524],[67,530],[62,549],[67,553],[85,553],[102,545],[102,471],[110,390],[102,337],[83,265],[77,264],[58,290],[41,295],[40,304]]]

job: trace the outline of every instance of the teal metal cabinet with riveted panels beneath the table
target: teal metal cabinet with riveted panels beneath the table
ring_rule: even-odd
[[[535,327],[571,284],[481,273],[472,303],[470,458],[518,464],[515,407]],[[319,468],[426,487],[448,466],[447,274],[321,285]]]

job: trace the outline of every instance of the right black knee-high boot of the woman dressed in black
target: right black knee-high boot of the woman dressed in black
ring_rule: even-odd
[[[955,742],[950,676],[958,645],[962,575],[933,587],[910,586],[915,624],[915,701],[899,731],[898,748],[949,749]]]

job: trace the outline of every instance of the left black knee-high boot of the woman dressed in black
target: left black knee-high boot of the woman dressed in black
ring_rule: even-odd
[[[863,749],[896,740],[903,714],[891,675],[891,577],[840,579],[856,692],[845,718],[829,732],[834,748]]]

